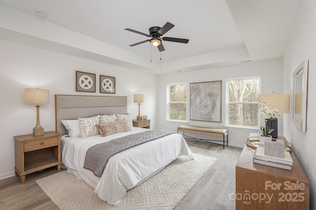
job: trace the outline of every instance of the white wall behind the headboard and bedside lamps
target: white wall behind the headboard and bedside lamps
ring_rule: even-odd
[[[96,74],[96,92],[76,92],[76,71]],[[116,94],[99,91],[99,75],[116,78]],[[14,175],[15,135],[33,132],[36,108],[24,103],[24,88],[50,90],[49,104],[40,107],[40,125],[55,130],[54,94],[127,96],[128,112],[136,119],[138,105],[133,94],[145,95],[141,114],[155,128],[157,76],[104,63],[0,40],[0,179]]]

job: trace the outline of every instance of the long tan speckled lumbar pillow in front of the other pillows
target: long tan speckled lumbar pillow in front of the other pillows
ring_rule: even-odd
[[[102,137],[131,130],[130,126],[125,120],[105,124],[98,124],[95,126],[99,130]]]

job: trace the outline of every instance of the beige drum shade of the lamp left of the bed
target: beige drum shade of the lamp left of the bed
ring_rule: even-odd
[[[24,102],[31,104],[48,104],[49,103],[49,90],[40,88],[25,88]]]

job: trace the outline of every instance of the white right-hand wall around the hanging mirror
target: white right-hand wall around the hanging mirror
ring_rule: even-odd
[[[288,117],[284,123],[287,139],[293,144],[293,151],[311,182],[311,210],[316,210],[316,1],[304,0],[296,25],[284,56],[284,91],[290,92],[292,74],[305,59],[309,60],[307,131],[300,131]]]

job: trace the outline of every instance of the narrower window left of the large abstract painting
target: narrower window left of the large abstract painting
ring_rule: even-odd
[[[168,84],[167,120],[187,120],[187,84]]]

